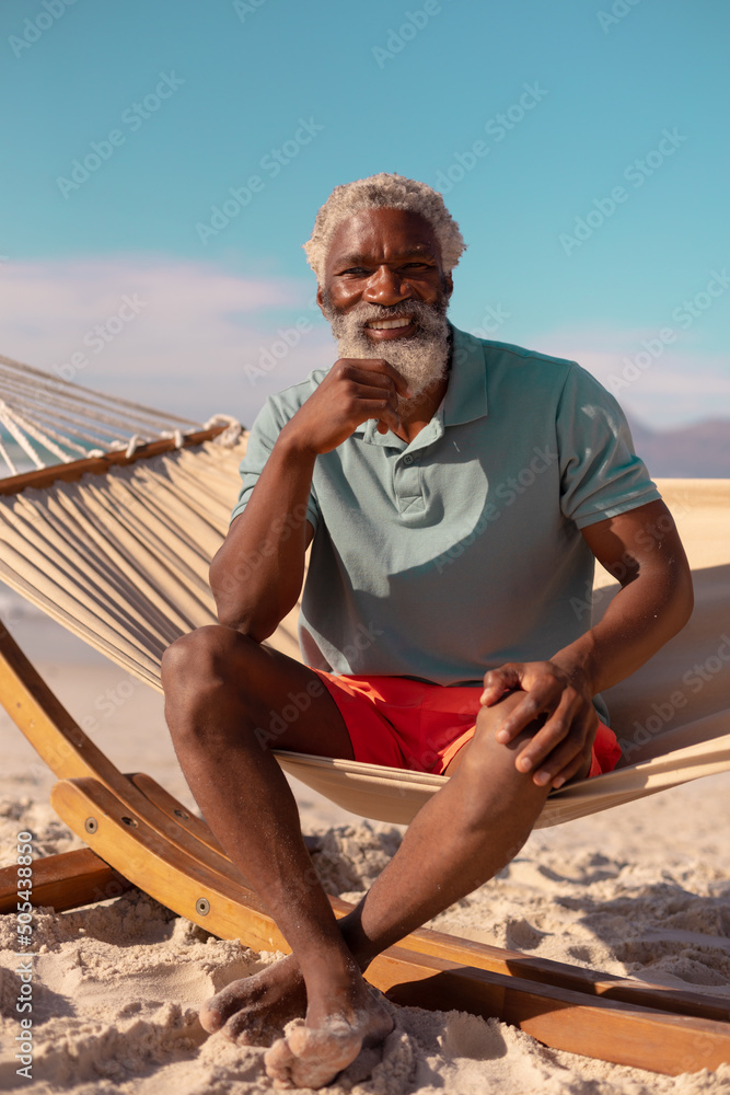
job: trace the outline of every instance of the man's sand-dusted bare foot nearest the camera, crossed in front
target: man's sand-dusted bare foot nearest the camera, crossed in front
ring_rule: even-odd
[[[331,1001],[328,1014],[318,1021],[308,1014],[305,1023],[289,1025],[286,1037],[264,1054],[275,1087],[324,1087],[363,1047],[376,1046],[391,1033],[390,1013],[364,981],[356,998],[355,1004],[339,1006]]]

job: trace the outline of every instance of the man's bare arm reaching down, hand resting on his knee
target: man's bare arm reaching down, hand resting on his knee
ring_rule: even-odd
[[[511,741],[538,715],[544,726],[517,758],[537,783],[559,786],[586,763],[595,737],[596,692],[635,672],[685,625],[693,608],[692,573],[663,502],[651,502],[583,530],[586,542],[621,581],[603,619],[547,661],[502,666],[484,679],[483,703],[522,689],[524,701],[502,724]]]

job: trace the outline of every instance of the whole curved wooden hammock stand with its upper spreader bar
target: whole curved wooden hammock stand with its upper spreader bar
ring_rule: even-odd
[[[190,435],[200,443],[221,427]],[[174,447],[143,446],[0,482],[0,494],[104,473]],[[91,464],[96,466],[92,468]],[[19,482],[23,480],[24,482]],[[10,484],[12,483],[12,489]],[[37,860],[33,904],[63,910],[137,886],[181,917],[254,949],[286,940],[207,825],[154,780],[124,775],[86,737],[4,627],[0,703],[58,783],[50,800],[88,848]],[[16,868],[0,869],[0,912],[14,912]],[[337,917],[352,908],[331,897]],[[399,1004],[456,1008],[513,1024],[554,1049],[667,1075],[730,1063],[730,1002],[530,957],[421,929],[369,967],[368,980]]]

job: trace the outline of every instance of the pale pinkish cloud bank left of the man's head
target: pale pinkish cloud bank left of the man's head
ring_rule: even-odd
[[[250,424],[266,394],[334,360],[312,293],[304,281],[150,256],[10,262],[0,353],[192,418]]]

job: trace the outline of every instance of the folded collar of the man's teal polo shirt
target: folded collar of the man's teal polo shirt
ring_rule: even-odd
[[[474,335],[460,331],[451,323],[449,327],[453,338],[449,387],[434,417],[442,414],[444,426],[459,426],[487,415],[486,347]],[[363,435],[363,439],[371,445],[406,447],[406,442],[391,430],[379,434],[374,418],[361,423],[354,433]]]

